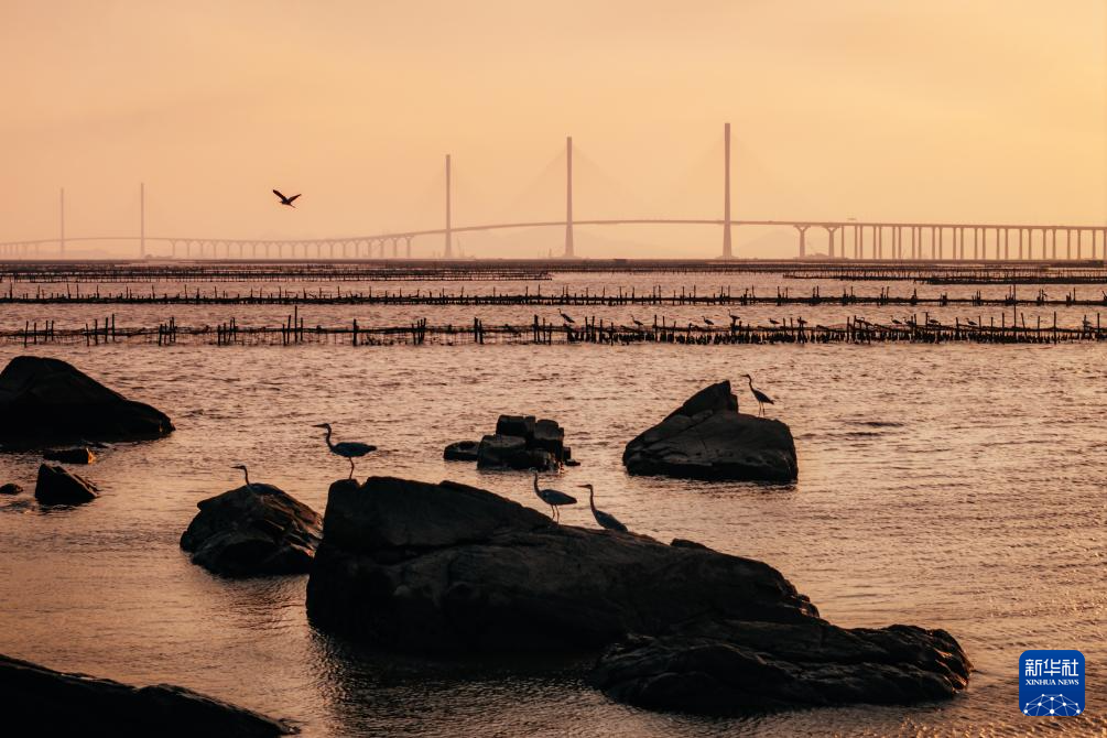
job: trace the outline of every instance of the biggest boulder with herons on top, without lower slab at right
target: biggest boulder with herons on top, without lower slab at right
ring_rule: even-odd
[[[817,620],[759,561],[557,526],[454,482],[335,482],[323,530],[309,616],[392,649],[599,648],[707,615]]]

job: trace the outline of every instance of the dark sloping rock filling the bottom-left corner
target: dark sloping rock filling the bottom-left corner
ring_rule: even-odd
[[[263,738],[298,732],[282,720],[184,687],[133,687],[2,655],[0,694],[11,735]]]

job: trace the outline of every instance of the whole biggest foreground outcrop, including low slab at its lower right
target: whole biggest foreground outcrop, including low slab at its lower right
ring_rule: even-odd
[[[948,697],[943,631],[844,630],[775,569],[692,541],[558,526],[485,490],[334,482],[308,582],[323,631],[404,652],[608,651],[592,682],[655,709]]]

